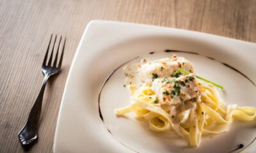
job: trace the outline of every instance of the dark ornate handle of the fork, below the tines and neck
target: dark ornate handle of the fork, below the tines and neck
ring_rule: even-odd
[[[28,120],[24,128],[19,133],[19,139],[22,145],[29,145],[30,143],[34,142],[37,139],[37,126],[38,126],[40,113],[42,110],[42,101],[44,97],[45,86],[47,84],[49,77],[50,75],[46,73],[44,76],[44,80],[43,80],[40,92],[29,113]]]

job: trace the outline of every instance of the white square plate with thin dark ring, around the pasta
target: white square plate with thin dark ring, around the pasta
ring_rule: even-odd
[[[181,29],[96,20],[86,27],[68,74],[53,151],[228,152],[243,143],[246,152],[255,152],[256,142],[250,143],[256,129],[247,124],[203,138],[200,147],[190,148],[186,141],[150,132],[132,117],[115,116],[113,110],[127,105],[129,98],[122,87],[122,64],[138,56],[158,59],[173,53],[192,61],[198,75],[223,85],[221,98],[227,104],[256,106],[254,43]],[[115,69],[100,96],[102,122],[99,92]]]

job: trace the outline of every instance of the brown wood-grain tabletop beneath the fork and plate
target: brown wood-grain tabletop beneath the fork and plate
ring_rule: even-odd
[[[63,71],[47,84],[39,140],[29,152],[52,152],[68,69],[90,20],[177,27],[256,42],[253,0],[0,1],[0,152],[24,152],[17,133],[38,94],[51,33],[67,36]],[[256,52],[256,51],[255,51]]]

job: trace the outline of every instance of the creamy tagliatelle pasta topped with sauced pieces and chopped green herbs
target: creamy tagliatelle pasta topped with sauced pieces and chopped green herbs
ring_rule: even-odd
[[[256,118],[254,107],[226,106],[214,85],[199,82],[193,65],[183,57],[143,59],[132,68],[124,69],[131,105],[116,109],[116,116],[133,112],[148,120],[152,131],[175,131],[188,137],[191,147],[197,147],[203,135],[228,131],[234,119]]]

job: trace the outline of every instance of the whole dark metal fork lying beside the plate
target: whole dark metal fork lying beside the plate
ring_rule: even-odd
[[[44,62],[42,64],[42,72],[44,73],[44,80],[43,80],[40,92],[36,98],[36,101],[29,113],[28,121],[26,122],[24,128],[22,128],[22,130],[19,132],[20,143],[25,148],[28,148],[28,146],[31,147],[31,144],[33,144],[33,142],[35,142],[35,140],[38,138],[38,134],[37,134],[38,121],[39,121],[40,113],[42,110],[42,101],[43,101],[44,91],[45,91],[45,86],[47,84],[47,81],[52,75],[56,75],[57,73],[59,73],[60,69],[61,69],[61,63],[63,61],[63,52],[65,49],[66,38],[63,43],[60,61],[58,62],[58,53],[61,50],[61,48],[60,48],[61,39],[62,39],[62,36],[60,36],[58,48],[56,50],[56,55],[52,61],[54,47],[55,47],[56,40],[57,40],[57,35],[55,36],[54,43],[53,43],[52,49],[51,49],[51,55],[49,57],[49,61],[47,62],[48,52],[51,48],[51,41],[52,41],[52,34],[51,34],[51,39],[49,41],[49,45],[48,45],[48,48],[47,48],[47,51],[46,51],[46,54],[44,57]]]

